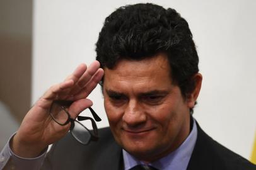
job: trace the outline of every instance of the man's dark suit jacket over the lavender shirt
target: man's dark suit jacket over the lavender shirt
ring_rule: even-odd
[[[256,169],[256,166],[211,139],[197,124],[198,135],[187,169]],[[110,128],[99,130],[98,142],[81,145],[68,133],[55,143],[42,169],[124,169],[122,149],[113,139]],[[178,170],[178,169],[175,169]]]

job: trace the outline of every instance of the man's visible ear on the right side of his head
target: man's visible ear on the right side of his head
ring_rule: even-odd
[[[192,91],[192,93],[190,93],[187,96],[187,106],[189,108],[193,108],[195,106],[195,101],[197,100],[197,97],[199,95],[200,89],[201,89],[201,84],[202,84],[202,74],[197,73],[195,74],[195,76],[193,77],[194,81],[195,81],[195,88],[194,91]]]

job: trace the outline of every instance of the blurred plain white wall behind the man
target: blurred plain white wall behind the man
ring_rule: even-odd
[[[33,80],[35,102],[81,62],[95,59],[103,21],[119,6],[146,1],[34,1]],[[190,25],[204,76],[194,116],[221,144],[250,157],[256,130],[256,1],[147,1],[175,8]],[[100,88],[90,99],[106,127]]]

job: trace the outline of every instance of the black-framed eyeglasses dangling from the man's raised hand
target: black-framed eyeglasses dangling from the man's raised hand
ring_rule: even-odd
[[[70,132],[73,135],[74,139],[76,139],[81,144],[87,145],[89,142],[98,140],[98,128],[96,126],[96,122],[100,122],[102,119],[95,113],[95,111],[89,107],[88,109],[93,115],[93,118],[88,116],[78,116],[78,120],[74,120],[71,118],[70,113],[67,111],[67,108],[71,106],[73,101],[65,101],[65,100],[55,100],[52,102],[50,106],[50,116],[52,119],[61,126],[67,125],[71,122]],[[87,109],[86,109],[87,110]],[[91,122],[91,126],[93,127],[93,131],[88,130],[82,123],[78,121],[89,121]]]

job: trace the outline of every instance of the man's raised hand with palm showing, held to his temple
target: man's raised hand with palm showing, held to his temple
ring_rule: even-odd
[[[52,86],[38,99],[13,137],[11,149],[15,154],[21,157],[36,157],[47,145],[66,135],[70,123],[65,126],[55,123],[49,114],[50,105],[56,99],[74,101],[68,108],[72,118],[76,118],[81,111],[93,105],[86,97],[102,79],[103,69],[99,67],[98,61],[88,68],[85,64],[79,65],[64,82]]]

